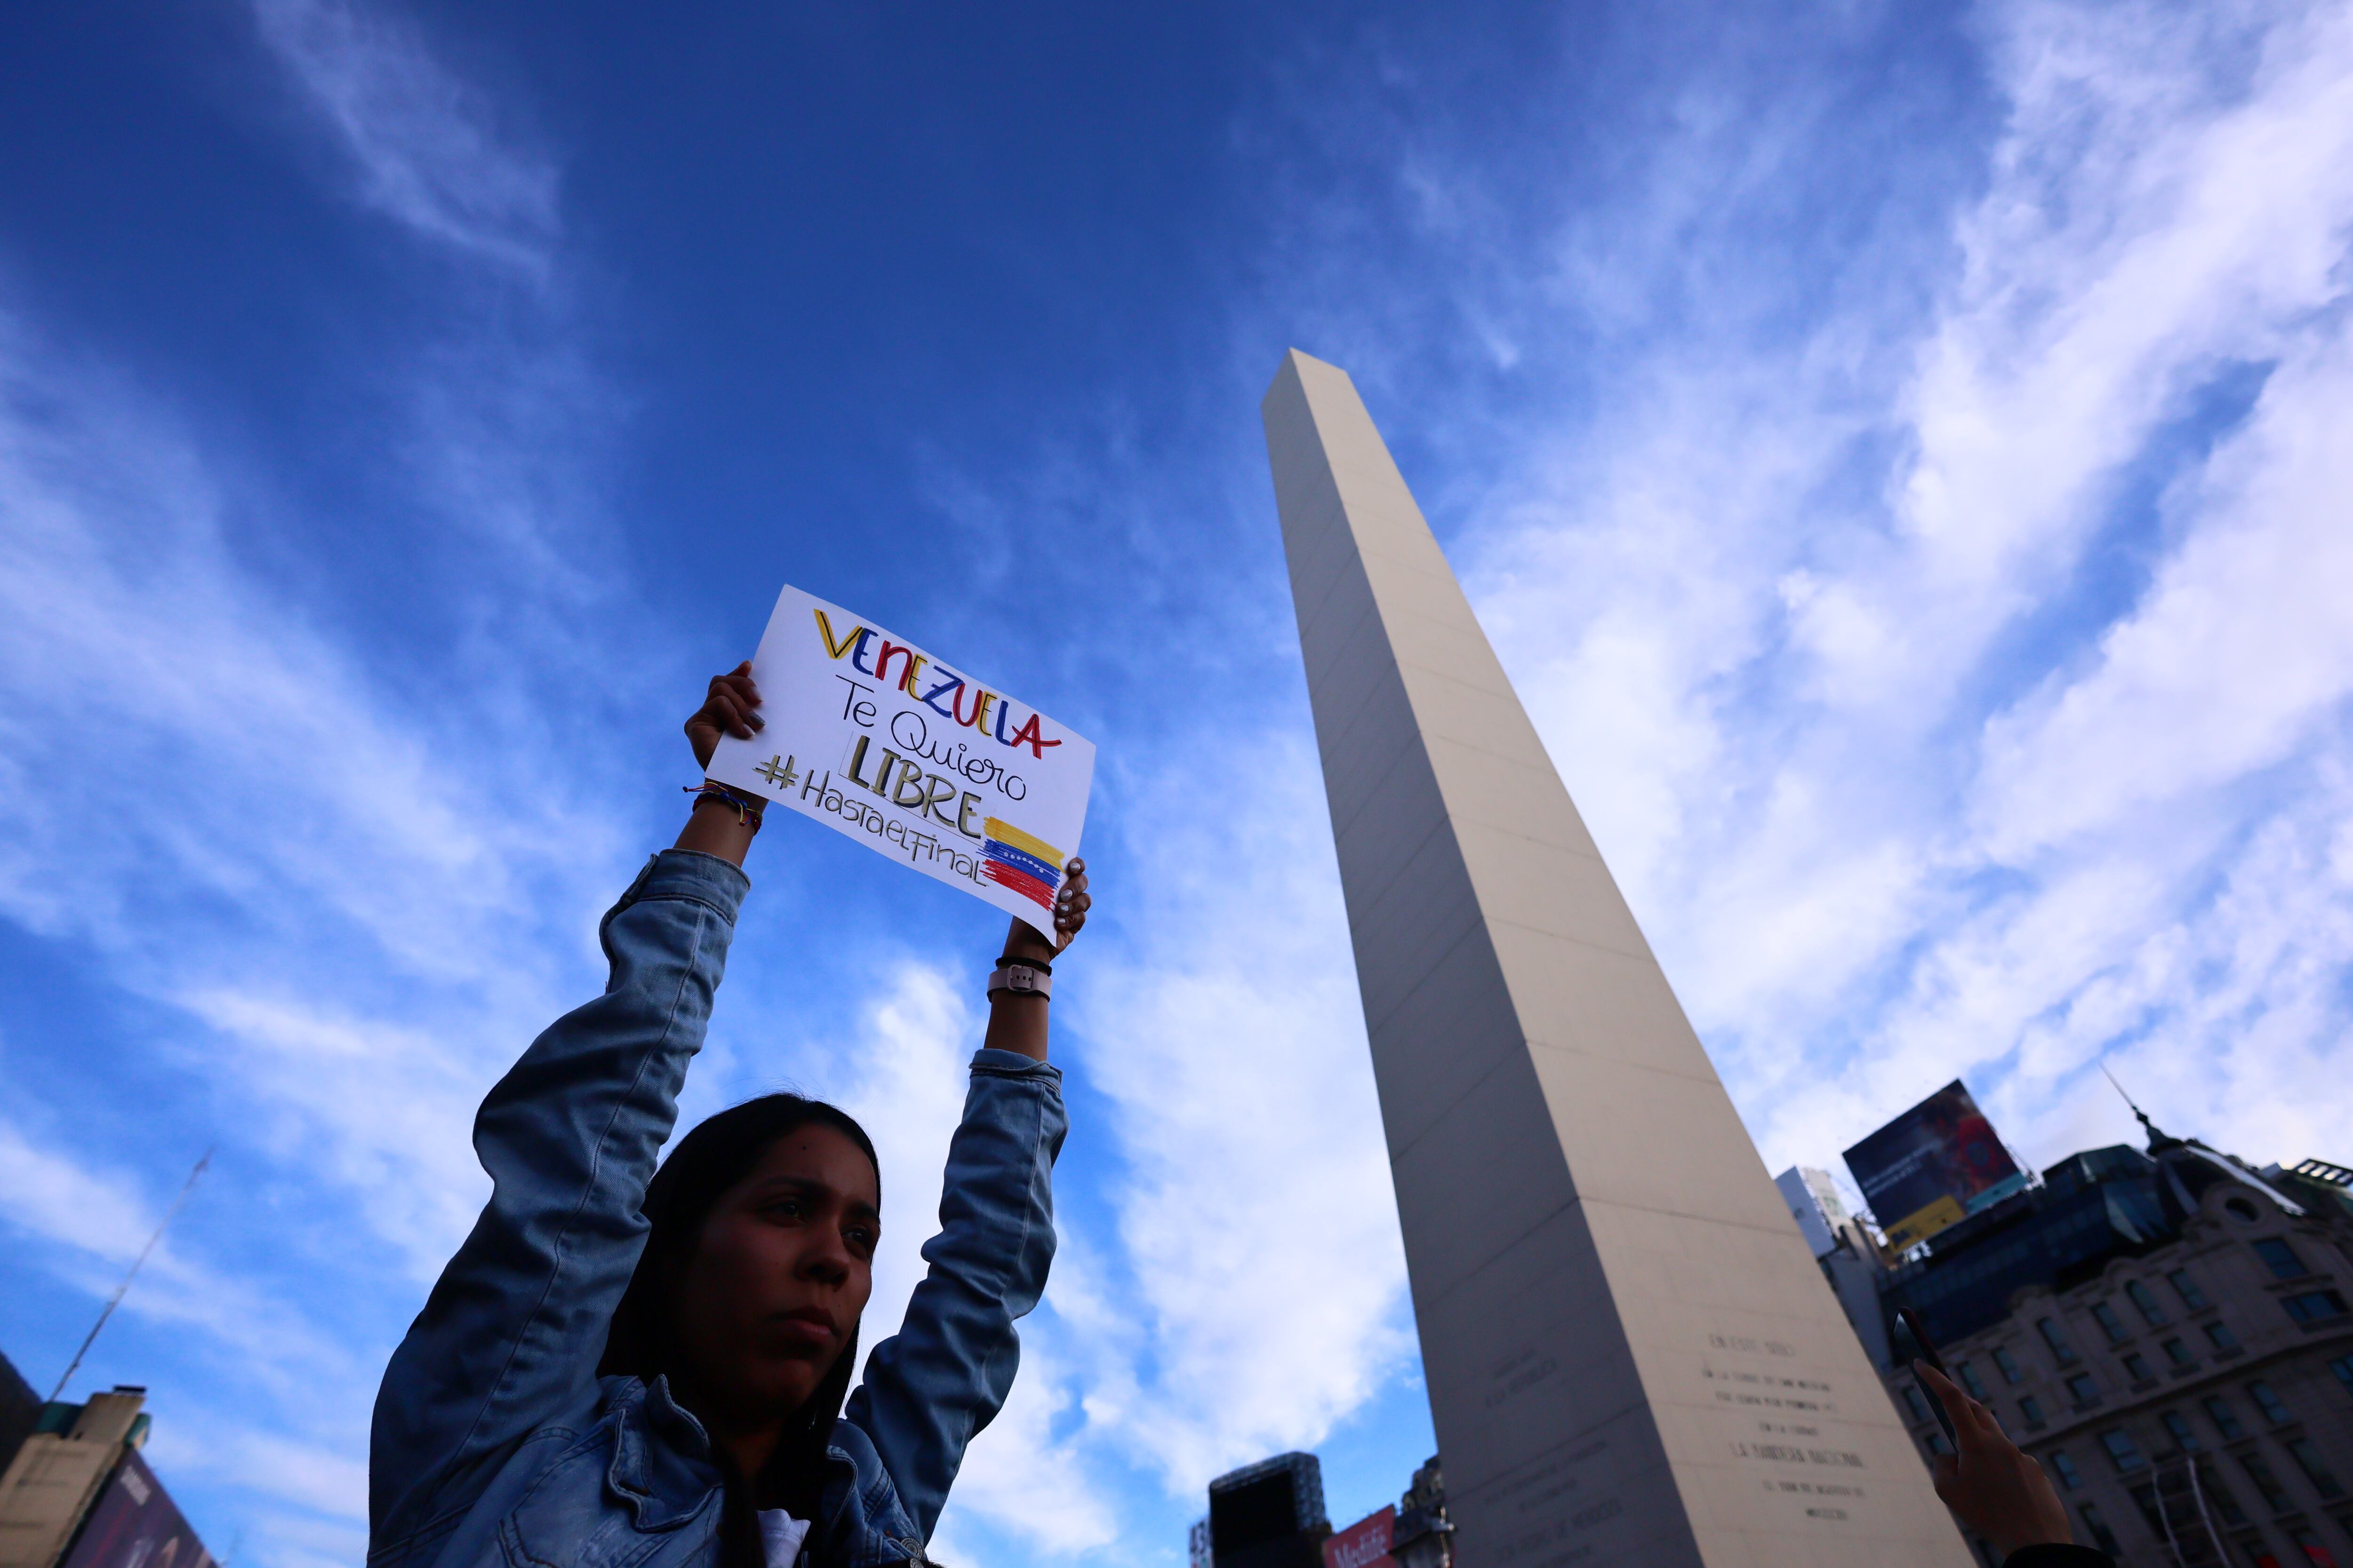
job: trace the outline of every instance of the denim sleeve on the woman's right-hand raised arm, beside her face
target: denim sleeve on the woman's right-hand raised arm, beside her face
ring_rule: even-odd
[[[1014,1319],[1038,1305],[1054,1262],[1054,1157],[1068,1126],[1061,1070],[1012,1051],[972,1058],[939,1234],[922,1244],[932,1267],[906,1324],[866,1359],[866,1382],[845,1410],[873,1439],[925,1540],[965,1443],[995,1420],[1014,1385]]]

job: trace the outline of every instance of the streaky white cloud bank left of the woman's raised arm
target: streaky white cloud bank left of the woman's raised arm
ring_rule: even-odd
[[[271,1251],[315,1281],[365,1293],[388,1262],[414,1293],[480,1201],[471,1105],[506,1041],[553,1013],[569,954],[541,922],[593,912],[626,856],[593,811],[555,795],[518,811],[473,783],[487,773],[442,750],[438,724],[233,559],[233,491],[148,400],[7,336],[0,912],[165,1009],[136,1065],[205,1086],[165,1107],[191,1147],[231,1147],[202,1199],[259,1206]],[[56,788],[68,778],[85,783]],[[24,1044],[0,1053],[19,1084]],[[106,1072],[45,1051],[49,1084],[99,1093]],[[21,1121],[68,1107],[12,1103],[0,1218],[99,1295],[158,1218],[148,1185],[172,1175],[92,1164],[87,1140]],[[254,1173],[271,1168],[304,1182],[264,1201]],[[358,1465],[393,1314],[287,1284],[167,1241],[125,1312],[195,1331],[235,1368],[188,1413],[193,1434],[221,1436],[226,1410],[259,1399],[322,1443],[318,1465]]]

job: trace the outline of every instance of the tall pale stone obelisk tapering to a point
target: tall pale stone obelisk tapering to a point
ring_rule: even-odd
[[[1261,411],[1459,1568],[1967,1568],[1355,386]]]

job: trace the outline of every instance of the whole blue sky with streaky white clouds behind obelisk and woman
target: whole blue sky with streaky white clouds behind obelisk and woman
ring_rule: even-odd
[[[1064,1253],[955,1563],[1431,1450],[1257,402],[1351,369],[1772,1168],[2101,1058],[2348,1154],[2353,9],[0,14],[0,1347],[353,1563],[471,1107],[784,581],[1101,748]],[[875,1131],[995,917],[805,823],[689,1114]],[[932,1182],[927,1187],[927,1182]]]

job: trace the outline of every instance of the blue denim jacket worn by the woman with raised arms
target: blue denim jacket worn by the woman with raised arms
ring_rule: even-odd
[[[748,886],[711,856],[654,856],[605,914],[605,994],[558,1018],[482,1100],[489,1206],[376,1394],[369,1568],[718,1559],[720,1472],[701,1425],[666,1380],[595,1368]],[[1012,1389],[1014,1319],[1045,1288],[1066,1126],[1054,1067],[972,1058],[929,1272],[833,1427],[819,1561],[925,1561],[965,1443]]]

